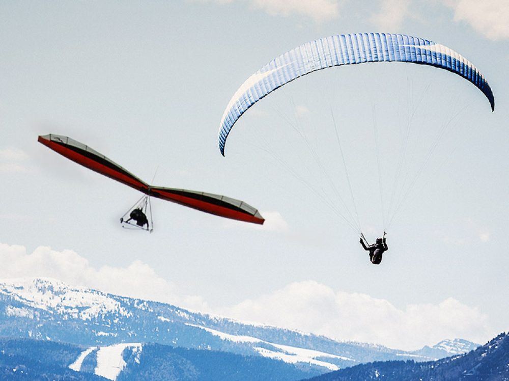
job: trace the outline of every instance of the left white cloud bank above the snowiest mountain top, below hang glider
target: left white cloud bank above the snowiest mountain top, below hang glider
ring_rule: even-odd
[[[61,252],[40,246],[27,254],[23,246],[0,243],[0,278],[54,278],[73,286],[170,303],[192,310],[206,310],[201,297],[181,294],[142,261],[126,267],[94,268],[72,250]]]

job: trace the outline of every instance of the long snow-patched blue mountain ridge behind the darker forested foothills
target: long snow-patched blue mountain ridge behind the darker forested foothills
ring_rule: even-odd
[[[340,342],[72,287],[50,279],[0,282],[0,336],[61,341],[87,348],[159,343],[220,350],[279,359],[318,373],[372,361],[435,360],[476,346],[454,340],[418,351],[402,351],[381,345]]]

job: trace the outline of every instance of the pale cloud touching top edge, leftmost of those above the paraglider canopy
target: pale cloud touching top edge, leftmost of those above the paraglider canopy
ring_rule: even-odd
[[[197,1],[197,0],[194,0]],[[198,0],[199,1],[199,0]],[[201,0],[207,1],[207,0]],[[240,0],[209,0],[218,4],[229,4]],[[271,16],[288,17],[299,15],[316,22],[332,20],[339,16],[341,0],[243,0],[254,9],[261,9]]]

